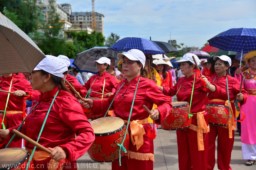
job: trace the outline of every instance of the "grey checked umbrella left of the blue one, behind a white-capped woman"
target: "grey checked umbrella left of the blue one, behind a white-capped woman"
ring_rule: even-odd
[[[96,74],[98,72],[97,64],[94,64],[93,61],[99,60],[101,57],[111,57],[115,59],[115,63],[117,64],[121,59],[117,57],[117,54],[119,54],[119,52],[108,49],[108,47],[95,46],[89,50],[85,50],[84,52],[77,54],[73,65],[76,66],[79,71]]]

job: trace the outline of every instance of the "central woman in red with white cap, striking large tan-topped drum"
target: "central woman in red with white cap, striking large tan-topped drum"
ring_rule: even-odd
[[[112,169],[152,170],[154,162],[154,145],[153,139],[148,137],[148,131],[151,132],[152,129],[148,124],[148,113],[144,110],[142,105],[145,104],[149,109],[151,109],[155,103],[158,107],[151,110],[152,115],[150,117],[153,120],[156,120],[156,123],[161,124],[172,109],[172,104],[163,95],[155,81],[144,78],[144,76],[147,76],[146,70],[143,69],[146,57],[140,50],[132,49],[125,54],[118,54],[118,57],[124,59],[122,69],[127,78],[120,81],[117,85],[116,90],[120,89],[124,84],[114,99],[111,110],[115,109],[116,116],[127,122],[130,115],[135,89],[138,84],[134,101],[136,104],[133,105],[130,119],[131,124],[128,128],[131,138],[138,137],[138,141],[133,142],[133,140],[130,140],[129,151],[123,158],[121,158],[122,166],[119,166],[119,161],[114,161],[112,162]],[[102,101],[86,99],[86,102],[88,103],[84,103],[83,105],[86,108],[92,107],[93,112],[104,113],[113,101],[114,96],[115,94]],[[143,135],[139,132],[136,132],[137,135],[134,133],[131,134],[130,126],[133,124],[136,124],[136,127],[142,124],[145,134]]]

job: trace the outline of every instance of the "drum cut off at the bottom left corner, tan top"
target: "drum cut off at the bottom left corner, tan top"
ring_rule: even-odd
[[[29,152],[22,148],[0,149],[0,169],[3,170],[25,170],[29,159]],[[31,160],[28,170],[33,170],[34,164]]]

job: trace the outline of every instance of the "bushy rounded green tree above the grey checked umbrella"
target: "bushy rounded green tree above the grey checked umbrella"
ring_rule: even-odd
[[[73,38],[74,46],[77,48],[78,53],[94,46],[104,46],[105,37],[101,32],[93,31],[91,34],[87,31],[70,32],[69,35]]]

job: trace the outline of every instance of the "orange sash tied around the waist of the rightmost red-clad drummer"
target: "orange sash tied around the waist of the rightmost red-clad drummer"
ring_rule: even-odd
[[[229,134],[229,138],[233,138],[232,130],[236,129],[236,121],[235,121],[234,113],[232,110],[231,102],[234,103],[234,100],[230,100],[228,103],[228,100],[225,101],[225,100],[221,100],[221,99],[212,99],[212,100],[210,100],[210,102],[225,102],[225,106],[228,106],[230,108],[231,117],[229,115],[228,134]],[[233,128],[233,126],[234,126],[234,128]]]

